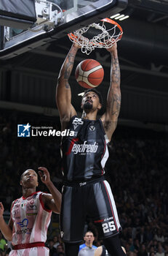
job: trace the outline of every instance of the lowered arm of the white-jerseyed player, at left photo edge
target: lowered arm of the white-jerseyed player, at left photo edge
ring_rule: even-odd
[[[4,235],[4,238],[6,238],[8,241],[12,241],[12,226],[13,226],[13,222],[12,219],[9,219],[9,223],[7,225],[7,223],[4,221],[4,206],[3,204],[0,202],[0,230],[1,233]]]

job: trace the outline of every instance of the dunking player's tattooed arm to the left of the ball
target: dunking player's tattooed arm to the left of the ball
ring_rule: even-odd
[[[71,105],[71,87],[69,86],[68,79],[73,69],[73,63],[79,46],[73,44],[65,58],[63,66],[60,69],[60,74],[57,79],[56,88],[56,102],[57,108],[60,113],[60,121],[62,129],[65,129],[65,122],[76,115],[76,110]]]

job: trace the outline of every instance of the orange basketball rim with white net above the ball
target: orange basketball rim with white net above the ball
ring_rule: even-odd
[[[100,20],[101,23],[92,23],[68,34],[72,42],[81,46],[81,52],[89,53],[95,48],[111,48],[123,34],[121,26],[110,18]]]

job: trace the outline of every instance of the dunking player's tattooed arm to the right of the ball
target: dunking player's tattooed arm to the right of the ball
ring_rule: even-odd
[[[101,117],[108,140],[116,129],[121,105],[120,68],[116,44],[107,49],[111,53],[111,85],[108,89],[106,112]]]

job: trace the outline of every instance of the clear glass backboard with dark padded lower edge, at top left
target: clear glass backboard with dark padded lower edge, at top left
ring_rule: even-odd
[[[18,0],[17,0],[18,1]],[[68,33],[121,12],[127,0],[34,0],[36,23],[28,29],[1,26],[0,59],[10,59],[25,51],[65,37]],[[3,23],[4,25],[4,23]]]

